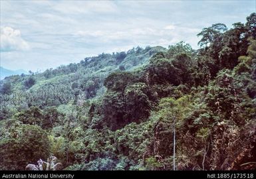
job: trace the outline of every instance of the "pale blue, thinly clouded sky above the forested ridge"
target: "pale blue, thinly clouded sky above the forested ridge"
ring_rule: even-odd
[[[45,70],[133,46],[167,47],[213,23],[245,23],[255,0],[7,1],[1,3],[1,66]]]

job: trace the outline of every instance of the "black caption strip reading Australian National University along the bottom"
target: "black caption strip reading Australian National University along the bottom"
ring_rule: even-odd
[[[255,170],[233,170],[233,171],[188,171],[188,170],[179,170],[179,171],[78,171],[78,170],[62,170],[62,171],[25,171],[25,170],[15,170],[15,171],[0,171],[0,177],[3,177],[3,174],[10,176],[11,174],[25,174],[29,178],[29,174],[48,174],[48,178],[51,178],[51,174],[63,174],[70,176],[68,174],[74,175],[72,179],[80,178],[110,178],[110,177],[128,177],[130,179],[136,178],[148,178],[153,177],[156,179],[162,178],[203,178],[203,179],[221,179],[221,178],[230,178],[230,179],[239,179],[239,178],[248,178],[256,179],[256,168]],[[8,178],[22,178],[22,177],[8,177]],[[61,177],[56,177],[61,178]],[[71,177],[64,177],[71,178]]]

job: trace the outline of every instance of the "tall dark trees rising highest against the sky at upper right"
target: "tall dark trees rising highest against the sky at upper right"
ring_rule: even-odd
[[[243,56],[248,48],[249,37],[255,38],[255,13],[247,17],[247,23],[233,24],[233,29],[227,30],[223,24],[215,24],[203,29],[199,45],[203,47],[201,54],[213,58],[220,69],[233,69],[238,64],[239,56]]]

